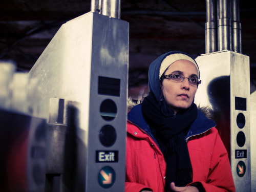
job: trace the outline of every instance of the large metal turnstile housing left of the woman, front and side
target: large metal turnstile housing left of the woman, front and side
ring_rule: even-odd
[[[37,84],[31,101],[34,116],[49,118],[50,98],[80,103],[77,186],[73,191],[124,191],[128,51],[129,24],[90,12],[63,24],[29,72]],[[98,94],[99,76],[120,79],[120,96]],[[105,99],[117,106],[112,121],[100,116]],[[99,141],[106,124],[117,133],[116,142],[109,147]],[[97,150],[118,151],[118,162],[96,163]],[[102,188],[97,179],[105,166],[116,174],[110,188]]]

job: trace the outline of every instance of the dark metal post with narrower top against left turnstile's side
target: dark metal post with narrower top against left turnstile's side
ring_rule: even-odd
[[[68,192],[69,173],[65,167],[67,125],[64,124],[64,99],[50,99],[49,123],[46,130],[46,189],[45,192]]]

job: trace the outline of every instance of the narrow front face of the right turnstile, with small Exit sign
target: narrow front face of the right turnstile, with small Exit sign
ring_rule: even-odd
[[[230,68],[230,98],[231,98],[231,168],[237,191],[251,190],[251,163],[250,163],[250,69],[249,57],[231,53],[231,68]],[[246,111],[236,110],[235,97],[246,98]],[[245,116],[245,126],[240,129],[237,124],[237,116],[242,113]],[[237,144],[238,132],[242,131],[245,134],[245,144],[240,147]],[[235,159],[236,150],[247,150],[247,158]],[[238,177],[237,165],[240,161],[246,165],[245,175]],[[244,167],[245,168],[245,167]]]

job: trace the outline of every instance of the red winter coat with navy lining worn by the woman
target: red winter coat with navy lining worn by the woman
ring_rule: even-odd
[[[141,105],[135,108],[129,112],[127,122],[125,191],[139,192],[143,188],[151,188],[154,192],[164,192],[164,156],[148,131]],[[197,123],[191,125],[190,136],[186,138],[193,183],[202,183],[207,192],[235,191],[228,154],[218,131],[215,127],[202,129],[202,125],[211,123],[205,123],[207,118],[201,112],[198,116]],[[198,122],[201,122],[198,125],[200,129],[195,128]]]

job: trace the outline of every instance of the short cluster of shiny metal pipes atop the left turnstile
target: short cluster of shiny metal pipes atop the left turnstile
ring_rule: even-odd
[[[92,0],[91,11],[120,19],[121,0]]]

